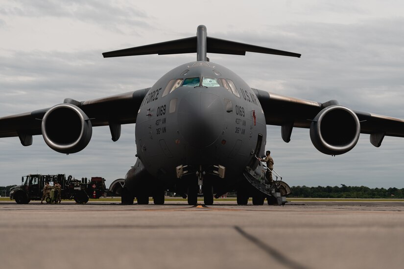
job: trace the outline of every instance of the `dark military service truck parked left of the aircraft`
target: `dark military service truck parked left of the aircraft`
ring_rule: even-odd
[[[59,182],[61,185],[61,199],[74,199],[77,203],[86,203],[89,198],[98,199],[107,192],[105,179],[94,177],[90,180],[82,178],[74,179],[69,176],[66,179],[64,174],[40,175],[30,174],[22,177],[22,184],[10,189],[10,199],[17,203],[29,203],[31,200],[40,201],[43,196],[45,182],[54,185]],[[46,198],[46,202],[55,202],[57,198]]]

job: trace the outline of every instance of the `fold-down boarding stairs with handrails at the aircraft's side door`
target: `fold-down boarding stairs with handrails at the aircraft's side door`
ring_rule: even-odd
[[[257,159],[260,160],[259,158]],[[269,168],[265,162],[260,160],[255,170],[247,166],[243,175],[254,188],[266,195],[268,204],[284,205],[287,202],[286,195],[291,193],[290,187],[282,181],[281,175],[275,170],[271,172],[276,179],[272,183],[269,182],[265,178],[265,173],[268,170]]]

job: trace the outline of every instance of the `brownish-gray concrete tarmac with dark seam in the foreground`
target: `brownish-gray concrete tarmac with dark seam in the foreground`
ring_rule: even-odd
[[[4,269],[403,268],[404,202],[0,202]]]

